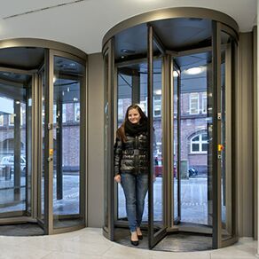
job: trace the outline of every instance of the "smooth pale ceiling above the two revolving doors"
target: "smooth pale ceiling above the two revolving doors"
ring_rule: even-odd
[[[101,51],[106,32],[122,20],[168,7],[203,7],[224,12],[241,32],[256,24],[256,0],[1,0],[0,39],[32,37]]]

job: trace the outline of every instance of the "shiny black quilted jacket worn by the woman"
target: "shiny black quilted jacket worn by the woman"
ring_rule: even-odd
[[[127,141],[116,138],[114,145],[114,175],[121,173],[145,174],[148,171],[148,136],[126,134]]]

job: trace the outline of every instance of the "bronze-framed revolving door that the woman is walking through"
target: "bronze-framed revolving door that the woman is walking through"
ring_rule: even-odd
[[[177,232],[204,234],[208,248],[237,241],[234,169],[236,23],[207,9],[149,12],[104,38],[104,235],[127,236],[125,198],[114,183],[114,132],[138,104],[150,127],[145,248]],[[141,22],[140,22],[141,21]]]

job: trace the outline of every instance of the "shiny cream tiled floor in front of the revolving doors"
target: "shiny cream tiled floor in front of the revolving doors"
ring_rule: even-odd
[[[243,238],[232,247],[218,250],[157,252],[124,247],[104,238],[101,229],[85,228],[52,236],[0,236],[0,259],[252,259],[258,258],[256,247],[256,241]]]

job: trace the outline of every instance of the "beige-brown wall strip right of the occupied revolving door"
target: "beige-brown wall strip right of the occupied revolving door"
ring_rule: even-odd
[[[239,236],[254,235],[253,160],[253,36],[239,35],[238,89],[236,92],[236,169],[238,173]]]

